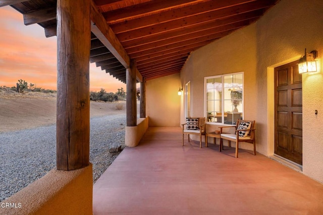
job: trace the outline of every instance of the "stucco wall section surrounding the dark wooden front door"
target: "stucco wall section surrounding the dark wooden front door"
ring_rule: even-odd
[[[267,74],[271,76],[273,69],[269,68],[297,60],[308,51],[317,50],[318,72],[302,75],[303,87],[303,173],[323,183],[323,132],[320,131],[323,122],[322,95],[323,90],[323,1],[292,1],[284,0],[277,4],[257,22],[257,80],[260,95],[267,90]],[[271,83],[269,83],[271,84]],[[273,93],[269,90],[268,94]],[[258,108],[261,110],[258,118],[265,121],[267,117],[267,97],[258,97]],[[271,104],[270,104],[271,105]],[[269,108],[273,108],[271,105]],[[314,111],[318,110],[318,115]],[[321,114],[320,114],[321,113]],[[273,126],[273,116],[268,117],[268,125]],[[274,133],[266,134],[273,137]],[[273,146],[274,138],[267,142]],[[262,152],[266,154],[262,145]],[[271,154],[272,152],[267,152]]]

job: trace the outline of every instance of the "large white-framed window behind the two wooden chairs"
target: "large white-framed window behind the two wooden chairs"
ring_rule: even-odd
[[[243,73],[204,78],[204,110],[209,124],[234,125],[243,117]]]

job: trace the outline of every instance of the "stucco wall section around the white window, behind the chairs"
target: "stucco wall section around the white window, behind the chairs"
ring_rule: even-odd
[[[244,97],[244,118],[250,120],[256,118],[257,110],[254,108],[256,106],[254,98],[257,97],[255,32],[255,25],[250,25],[192,52],[181,71],[182,83],[191,81],[192,116],[204,116],[204,77],[243,71],[244,93],[247,95]],[[185,117],[182,114],[181,122],[183,121]],[[217,127],[208,125],[206,131],[215,130]],[[209,141],[211,142],[212,138]],[[241,146],[252,149],[250,144],[241,144]]]

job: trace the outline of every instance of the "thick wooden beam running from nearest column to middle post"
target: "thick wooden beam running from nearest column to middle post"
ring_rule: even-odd
[[[130,67],[130,57],[93,1],[91,1],[91,31],[124,67]]]

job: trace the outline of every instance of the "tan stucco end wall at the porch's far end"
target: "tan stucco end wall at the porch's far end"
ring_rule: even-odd
[[[181,98],[180,75],[175,74],[146,82],[146,115],[149,126],[179,126]]]

